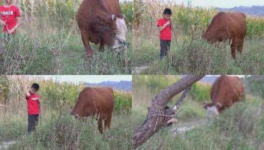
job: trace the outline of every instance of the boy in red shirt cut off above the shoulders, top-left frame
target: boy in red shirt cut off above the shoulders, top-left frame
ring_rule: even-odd
[[[0,6],[0,25],[3,26],[2,33],[14,35],[20,24],[19,8],[13,4],[13,0],[4,0],[4,4]]]

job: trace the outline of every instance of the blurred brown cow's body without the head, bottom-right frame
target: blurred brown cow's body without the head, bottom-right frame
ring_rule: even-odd
[[[244,99],[244,87],[238,77],[221,75],[212,85],[211,100],[213,103],[230,107],[242,99]]]

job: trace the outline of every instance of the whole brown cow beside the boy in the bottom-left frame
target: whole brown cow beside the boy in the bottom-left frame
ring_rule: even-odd
[[[71,112],[76,118],[99,116],[98,128],[103,133],[105,127],[110,128],[113,112],[114,95],[109,87],[85,87],[79,94],[75,107]]]

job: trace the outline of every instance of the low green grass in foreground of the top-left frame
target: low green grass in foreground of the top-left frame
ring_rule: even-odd
[[[46,32],[46,31],[45,31]],[[0,45],[0,73],[26,75],[122,75],[131,74],[131,47],[127,54],[103,53],[92,44],[94,57],[86,58],[80,35],[57,32],[38,38],[18,34]],[[129,35],[129,33],[128,33]],[[0,40],[4,40],[0,37]],[[129,39],[128,39],[129,41]]]

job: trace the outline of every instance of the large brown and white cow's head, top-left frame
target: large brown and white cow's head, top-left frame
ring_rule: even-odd
[[[108,18],[98,14],[96,16],[103,26],[100,34],[103,42],[116,52],[127,50],[125,17],[121,14],[117,16],[111,15]]]

